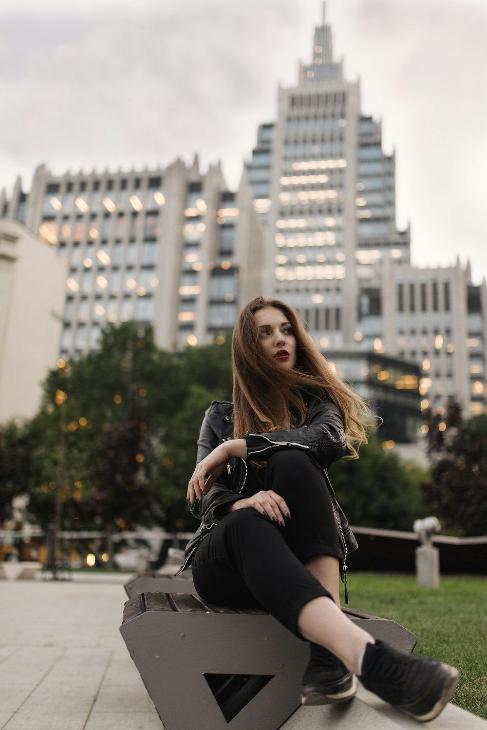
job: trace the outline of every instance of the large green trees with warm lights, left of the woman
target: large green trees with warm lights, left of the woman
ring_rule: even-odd
[[[231,391],[228,342],[167,353],[149,326],[110,326],[98,352],[48,374],[33,419],[0,427],[0,520],[25,493],[44,529],[59,503],[63,529],[192,529],[185,496],[201,420]]]

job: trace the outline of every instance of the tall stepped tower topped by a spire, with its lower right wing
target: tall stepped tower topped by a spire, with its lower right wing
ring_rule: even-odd
[[[265,231],[265,291],[300,311],[332,361],[343,350],[402,358],[420,367],[424,409],[441,413],[456,396],[465,415],[483,412],[485,280],[473,285],[458,261],[411,264],[410,230],[395,223],[394,154],[362,113],[359,82],[333,60],[324,20],[311,58],[297,86],[279,89],[278,118],[260,126],[246,165]]]

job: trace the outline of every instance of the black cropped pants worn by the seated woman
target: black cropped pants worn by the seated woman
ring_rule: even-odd
[[[265,472],[249,468],[246,496],[273,489],[287,503],[284,528],[252,507],[225,515],[198,545],[192,575],[212,604],[268,611],[297,637],[297,615],[330,593],[304,563],[318,555],[342,559],[338,526],[321,467],[295,449],[270,456]],[[302,637],[300,637],[302,638]]]

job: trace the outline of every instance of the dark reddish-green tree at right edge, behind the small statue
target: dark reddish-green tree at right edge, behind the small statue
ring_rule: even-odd
[[[487,415],[452,425],[441,439],[429,418],[432,482],[423,485],[424,499],[448,534],[487,534]]]

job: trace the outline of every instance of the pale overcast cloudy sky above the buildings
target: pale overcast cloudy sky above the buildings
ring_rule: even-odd
[[[327,0],[335,58],[397,155],[417,265],[487,276],[487,3]],[[0,187],[37,164],[165,165],[198,152],[238,185],[278,85],[311,61],[320,0],[16,0],[0,9]]]

